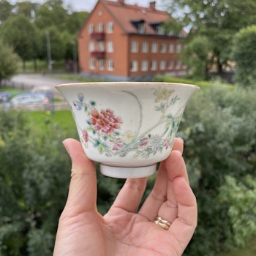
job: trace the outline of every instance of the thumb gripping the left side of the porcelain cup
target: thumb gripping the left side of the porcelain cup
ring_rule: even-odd
[[[72,160],[64,214],[73,217],[85,211],[97,211],[97,175],[94,162],[86,157],[78,140],[67,139],[63,144]]]

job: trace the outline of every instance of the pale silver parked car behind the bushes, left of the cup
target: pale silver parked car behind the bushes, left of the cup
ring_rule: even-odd
[[[50,99],[42,93],[18,94],[10,99],[11,105],[49,104]]]

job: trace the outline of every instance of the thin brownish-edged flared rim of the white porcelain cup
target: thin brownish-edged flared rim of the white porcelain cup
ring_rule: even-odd
[[[191,83],[168,83],[168,82],[135,82],[135,81],[121,81],[121,82],[75,82],[75,83],[61,83],[55,86],[56,89],[61,87],[70,86],[180,86],[180,87],[191,87],[195,89],[200,89]]]

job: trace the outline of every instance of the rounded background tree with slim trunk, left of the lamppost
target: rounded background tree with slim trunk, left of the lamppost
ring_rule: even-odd
[[[6,20],[0,27],[0,36],[20,56],[24,71],[26,61],[37,59],[38,31],[26,16],[18,15]]]

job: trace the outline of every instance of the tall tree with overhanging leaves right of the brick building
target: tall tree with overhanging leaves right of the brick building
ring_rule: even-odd
[[[191,27],[189,37],[205,36],[211,42],[211,60],[219,72],[227,66],[230,42],[239,29],[256,23],[255,0],[165,0],[178,23]]]

